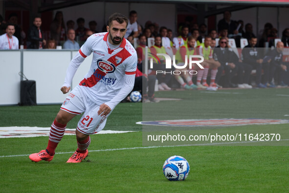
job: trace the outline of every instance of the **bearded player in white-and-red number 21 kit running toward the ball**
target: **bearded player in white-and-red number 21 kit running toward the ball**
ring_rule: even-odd
[[[89,135],[102,130],[114,107],[133,89],[137,55],[133,46],[124,38],[128,19],[114,13],[109,18],[107,31],[88,38],[71,60],[63,94],[70,90],[71,80],[84,59],[93,54],[89,72],[67,96],[51,125],[47,148],[33,153],[34,162],[50,162],[61,141],[67,122],[83,113],[76,128],[77,150],[67,163],[81,162],[88,155]]]

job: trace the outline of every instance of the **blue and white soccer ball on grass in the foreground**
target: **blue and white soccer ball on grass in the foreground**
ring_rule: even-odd
[[[162,170],[168,180],[179,181],[188,177],[190,166],[185,158],[174,155],[165,161]]]

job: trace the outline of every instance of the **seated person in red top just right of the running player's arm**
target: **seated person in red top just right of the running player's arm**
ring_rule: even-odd
[[[155,84],[156,84],[156,75],[148,75],[142,73],[142,61],[145,57],[145,47],[147,45],[147,39],[146,36],[141,34],[139,36],[139,45],[136,48],[137,53],[137,69],[136,69],[136,78],[135,78],[135,84],[134,86],[142,90],[142,97],[143,102],[158,102],[159,100],[156,100],[155,98]],[[148,52],[150,52],[150,49],[148,48]],[[138,85],[138,86],[136,86]],[[142,89],[142,88],[147,88]]]

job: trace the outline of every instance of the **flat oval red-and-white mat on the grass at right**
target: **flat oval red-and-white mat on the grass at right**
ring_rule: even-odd
[[[242,126],[252,124],[284,124],[289,120],[270,120],[270,119],[209,119],[209,120],[168,120],[168,121],[143,121],[137,124],[159,125],[159,126]]]

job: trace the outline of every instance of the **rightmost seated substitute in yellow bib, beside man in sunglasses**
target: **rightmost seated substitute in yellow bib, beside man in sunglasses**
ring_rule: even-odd
[[[204,43],[201,43],[200,46],[197,47],[198,55],[204,57],[204,61],[201,63],[204,69],[200,69],[197,73],[197,86],[200,89],[209,87],[208,90],[216,91],[218,88],[215,83],[215,78],[218,72],[218,68],[221,66],[221,64],[213,58],[213,50],[210,47],[211,41],[212,38],[210,36],[206,36]],[[210,86],[207,84],[207,75],[209,69],[211,69]]]

